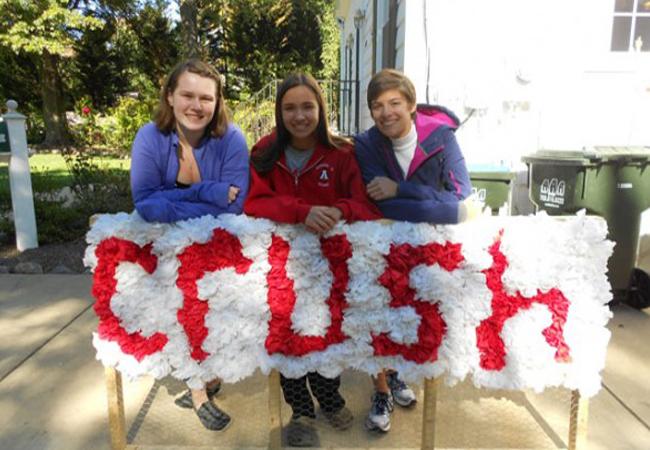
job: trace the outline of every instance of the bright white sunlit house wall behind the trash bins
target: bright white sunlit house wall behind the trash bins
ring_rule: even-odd
[[[461,119],[474,110],[458,132],[471,163],[516,166],[539,148],[650,144],[650,54],[609,51],[613,0],[406,5],[404,71],[418,101]]]

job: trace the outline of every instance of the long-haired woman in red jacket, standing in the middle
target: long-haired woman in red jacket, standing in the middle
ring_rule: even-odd
[[[350,142],[332,135],[326,118],[325,100],[316,80],[295,74],[282,82],[275,101],[276,129],[252,150],[246,214],[302,223],[319,234],[339,220],[381,217],[366,197]],[[317,372],[296,379],[281,376],[284,398],[293,411],[287,427],[292,446],[317,445],[310,424],[316,414],[308,384],[333,427],[345,429],[352,423],[352,414],[339,393],[340,377],[330,379]]]

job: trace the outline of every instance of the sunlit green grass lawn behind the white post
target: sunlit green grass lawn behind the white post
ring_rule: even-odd
[[[94,161],[100,167],[107,169],[128,171],[131,167],[130,159],[98,157]],[[63,156],[60,154],[36,154],[29,158],[29,167],[34,191],[51,191],[72,184],[72,175],[65,164]],[[9,199],[9,196],[9,165],[0,163],[0,199]]]

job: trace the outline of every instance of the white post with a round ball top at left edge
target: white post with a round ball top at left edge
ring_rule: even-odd
[[[38,238],[36,234],[32,178],[29,173],[25,116],[16,112],[16,108],[18,108],[18,103],[9,100],[7,102],[7,113],[2,117],[7,124],[9,145],[11,147],[9,185],[11,187],[11,205],[16,229],[16,248],[22,252],[38,247]]]

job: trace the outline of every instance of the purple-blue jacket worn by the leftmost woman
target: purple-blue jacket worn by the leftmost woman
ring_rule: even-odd
[[[175,222],[206,214],[240,214],[248,193],[248,147],[241,131],[228,124],[218,138],[207,136],[193,149],[201,181],[177,188],[178,135],[153,123],[138,131],[131,152],[131,193],[147,222]],[[239,194],[228,203],[230,186]]]

